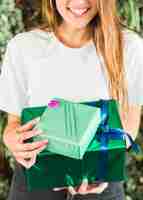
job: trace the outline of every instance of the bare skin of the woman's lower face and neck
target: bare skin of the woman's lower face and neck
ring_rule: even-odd
[[[65,45],[78,48],[91,40],[90,21],[97,14],[97,5],[95,0],[56,0],[57,10],[63,19],[63,23],[58,27],[57,36]],[[76,17],[67,9],[69,8],[87,8],[88,13],[81,17]],[[75,37],[76,35],[76,37]]]

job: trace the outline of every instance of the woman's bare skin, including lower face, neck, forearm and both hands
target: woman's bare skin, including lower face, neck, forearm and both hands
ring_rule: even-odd
[[[91,40],[91,32],[89,22],[97,14],[97,6],[95,0],[56,0],[57,10],[63,18],[63,23],[56,30],[56,35],[65,45],[78,48],[85,45]],[[67,7],[78,8],[78,7],[90,7],[90,10],[85,16],[75,17],[73,16]],[[76,35],[76,37],[75,37]],[[135,139],[139,129],[141,106],[130,105],[130,112],[128,119],[125,121],[124,115],[120,110],[120,116],[125,131],[130,133]],[[19,116],[9,114],[8,124],[4,131],[4,143],[12,152],[17,162],[21,163],[25,167],[29,168],[36,159],[36,155],[42,151],[48,141],[34,142],[32,144],[24,144],[24,140],[31,138],[37,133],[35,130],[30,130],[37,121],[33,120],[26,125],[20,126]],[[16,134],[16,129],[20,132],[19,136]],[[28,154],[27,154],[28,153]],[[25,158],[30,157],[29,161]],[[87,193],[98,193],[103,191],[105,185],[88,185],[87,181],[84,181],[77,188],[69,188],[70,192],[87,194]],[[106,185],[107,187],[107,185]]]

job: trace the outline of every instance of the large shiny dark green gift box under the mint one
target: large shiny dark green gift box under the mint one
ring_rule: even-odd
[[[83,102],[82,102],[83,103]],[[89,106],[101,107],[103,100],[84,102]],[[108,127],[122,129],[118,113],[118,104],[115,100],[106,100],[108,111]],[[41,116],[47,106],[29,107],[22,112],[21,123]],[[104,149],[104,141],[97,136],[102,135],[103,127],[99,127],[95,137],[87,148],[82,160],[69,158],[48,151],[43,151],[37,156],[36,164],[30,169],[25,169],[28,190],[55,188],[80,185],[83,178],[88,178],[89,183],[96,181],[123,181],[126,179],[125,160],[126,143],[123,138],[109,139],[108,150]],[[108,133],[107,133],[108,134]],[[116,133],[114,133],[116,134]]]

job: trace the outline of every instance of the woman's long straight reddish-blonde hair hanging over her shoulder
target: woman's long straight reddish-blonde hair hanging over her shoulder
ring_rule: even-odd
[[[55,31],[62,19],[55,0],[42,0],[41,13],[44,26]],[[128,91],[123,56],[123,26],[117,14],[116,0],[97,0],[97,15],[92,20],[93,41],[99,57],[103,58],[109,96],[128,112]],[[42,28],[42,26],[41,26]]]

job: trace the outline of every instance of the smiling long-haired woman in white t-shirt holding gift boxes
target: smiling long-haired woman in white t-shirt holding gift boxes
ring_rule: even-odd
[[[0,77],[0,109],[8,112],[3,139],[17,161],[9,200],[66,198],[64,190],[26,189],[21,165],[30,167],[48,141],[24,144],[40,134],[30,131],[37,120],[20,125],[24,107],[45,105],[57,95],[78,102],[114,98],[134,139],[140,122],[143,40],[120,24],[116,1],[42,0],[41,8],[44,26],[8,43]],[[75,199],[124,199],[122,183],[84,182],[69,192]]]

